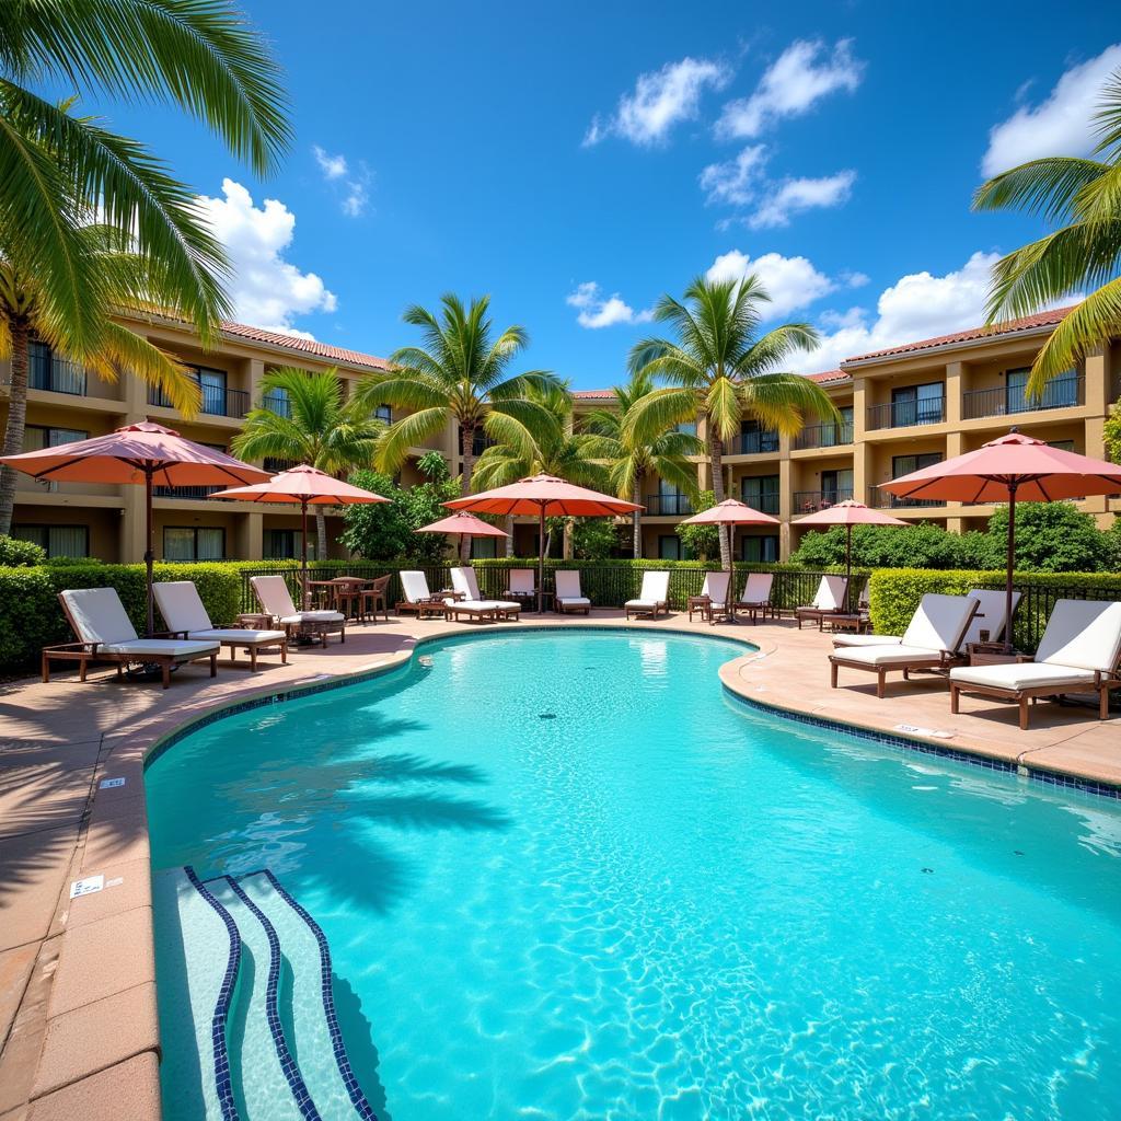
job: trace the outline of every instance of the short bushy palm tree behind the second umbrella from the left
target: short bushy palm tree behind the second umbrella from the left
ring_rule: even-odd
[[[234,455],[247,460],[307,463],[328,474],[373,462],[385,425],[354,395],[344,396],[337,370],[308,373],[295,367],[271,370],[261,381],[266,399],[285,402],[279,411],[251,409],[231,441]],[[327,555],[327,519],[315,508],[316,552]]]

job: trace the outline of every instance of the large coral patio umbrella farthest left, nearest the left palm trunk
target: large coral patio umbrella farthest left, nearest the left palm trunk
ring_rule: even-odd
[[[152,562],[155,548],[151,525],[151,488],[210,487],[229,483],[254,483],[268,479],[261,467],[212,447],[184,439],[174,428],[149,420],[126,425],[105,436],[80,439],[38,452],[8,455],[0,463],[47,482],[143,483],[145,487],[145,564],[148,568],[148,630],[155,629],[152,601]]]

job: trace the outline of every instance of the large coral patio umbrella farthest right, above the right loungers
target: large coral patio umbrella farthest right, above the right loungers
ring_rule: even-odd
[[[946,502],[1007,502],[1008,560],[1004,577],[1004,649],[1012,649],[1012,569],[1016,565],[1016,503],[1054,502],[1091,494],[1121,494],[1121,466],[1051,447],[1013,428],[975,452],[955,455],[909,475],[881,483],[900,498]]]

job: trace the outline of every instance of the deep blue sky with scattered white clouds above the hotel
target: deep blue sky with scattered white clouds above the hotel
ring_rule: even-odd
[[[242,2],[291,93],[274,178],[172,111],[84,106],[212,200],[239,317],[386,354],[407,304],[490,293],[577,388],[708,270],[822,330],[805,371],[980,322],[992,254],[1041,229],[971,213],[983,169],[1087,151],[1121,66],[1097,2]]]

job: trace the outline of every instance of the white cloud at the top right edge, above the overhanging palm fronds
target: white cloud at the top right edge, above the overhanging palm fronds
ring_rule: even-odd
[[[1044,156],[1085,156],[1096,143],[1093,117],[1102,86],[1121,67],[1121,44],[1096,58],[1073,66],[1036,106],[1021,105],[989,132],[989,150],[981,161],[986,176]],[[1022,86],[1021,86],[1022,90]]]

